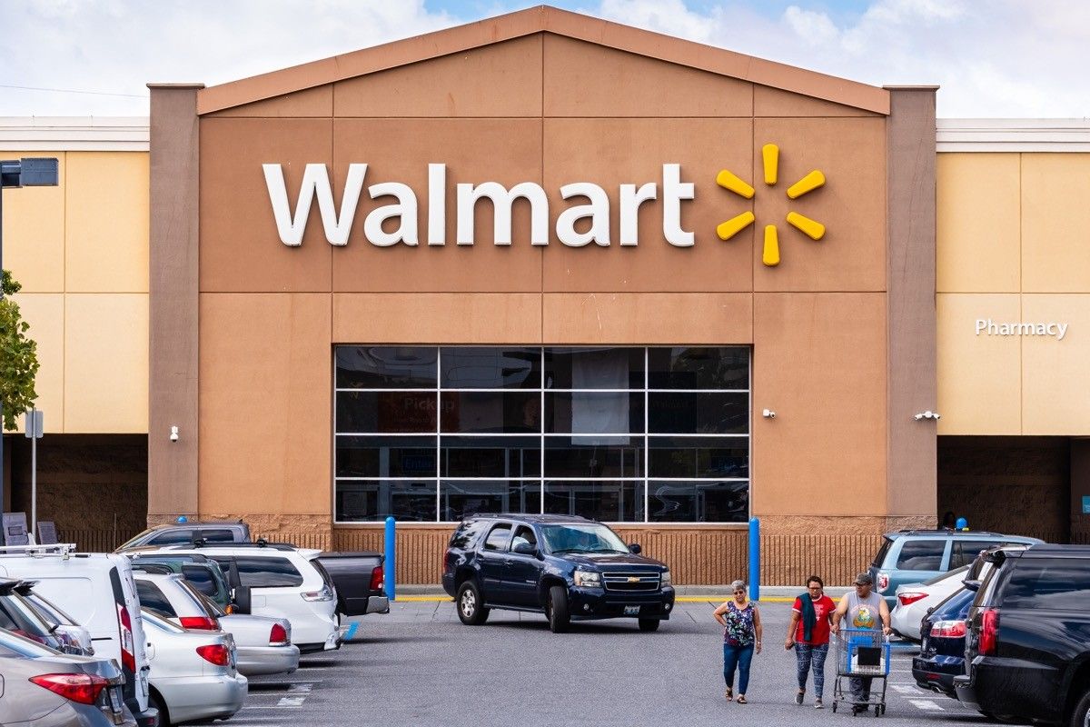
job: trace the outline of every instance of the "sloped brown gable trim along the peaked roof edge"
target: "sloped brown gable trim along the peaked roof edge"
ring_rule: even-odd
[[[547,5],[209,86],[197,92],[197,113],[222,111],[536,33],[553,33],[875,113],[889,113],[889,92],[884,88]]]

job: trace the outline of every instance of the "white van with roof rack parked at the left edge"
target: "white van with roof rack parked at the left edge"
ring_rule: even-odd
[[[112,553],[76,553],[74,545],[8,546],[0,548],[0,575],[36,581],[36,592],[86,628],[95,655],[114,658],[121,665],[125,704],[136,724],[158,724],[158,712],[147,704],[152,667],[129,558]]]

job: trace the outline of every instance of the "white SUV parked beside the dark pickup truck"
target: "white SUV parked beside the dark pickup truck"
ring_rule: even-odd
[[[340,646],[337,591],[316,560],[320,550],[262,541],[161,549],[172,554],[199,553],[218,562],[234,587],[240,611],[291,621],[291,638],[300,652]],[[149,552],[154,550],[141,549]]]

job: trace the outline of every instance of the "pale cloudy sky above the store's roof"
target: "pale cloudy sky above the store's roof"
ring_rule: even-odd
[[[0,117],[146,116],[149,82],[210,86],[534,4],[0,0]],[[1088,0],[550,4],[877,86],[940,85],[940,118],[1090,118]]]

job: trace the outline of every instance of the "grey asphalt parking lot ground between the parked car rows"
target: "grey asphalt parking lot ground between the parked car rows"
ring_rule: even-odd
[[[783,647],[789,604],[765,603],[765,651],[753,661],[749,704],[723,698],[718,602],[679,603],[656,633],[634,621],[572,625],[549,632],[543,616],[493,611],[463,626],[449,601],[398,601],[368,616],[353,642],[304,656],[286,677],[251,680],[231,725],[419,725],[507,727],[678,725],[725,719],[802,724],[851,719],[832,703],[835,669],[826,665],[825,704],[794,703],[795,655]],[[895,649],[883,724],[990,725],[955,700],[919,690],[911,651]],[[873,714],[859,718],[874,719]]]

